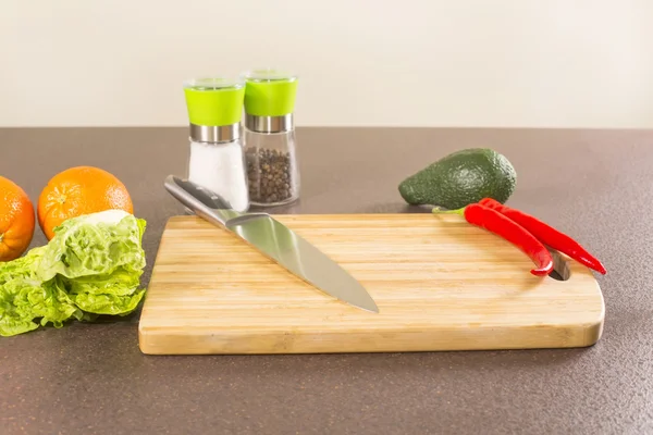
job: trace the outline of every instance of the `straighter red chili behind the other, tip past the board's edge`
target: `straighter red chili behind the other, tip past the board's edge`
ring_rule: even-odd
[[[603,264],[566,234],[560,233],[530,214],[504,206],[492,198],[484,198],[479,203],[512,219],[538,237],[544,245],[549,245],[551,248],[564,252],[579,263],[605,275],[606,271]]]

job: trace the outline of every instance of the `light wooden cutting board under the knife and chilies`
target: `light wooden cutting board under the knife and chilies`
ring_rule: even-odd
[[[459,215],[276,215],[368,289],[380,313],[341,302],[225,229],[170,219],[139,323],[145,353],[310,353],[586,347],[601,337],[593,274],[566,281]]]

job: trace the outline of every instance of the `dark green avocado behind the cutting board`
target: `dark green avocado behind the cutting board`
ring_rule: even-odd
[[[412,206],[460,209],[483,198],[506,202],[517,183],[508,159],[489,148],[453,152],[399,184],[399,194]]]

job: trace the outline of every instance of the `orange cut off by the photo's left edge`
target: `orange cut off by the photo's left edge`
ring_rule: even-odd
[[[23,254],[34,236],[34,204],[25,190],[0,176],[0,261]]]

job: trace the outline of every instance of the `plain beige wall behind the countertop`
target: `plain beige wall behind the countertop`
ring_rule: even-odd
[[[0,0],[0,126],[186,125],[182,82],[300,76],[316,126],[653,127],[653,1]]]

